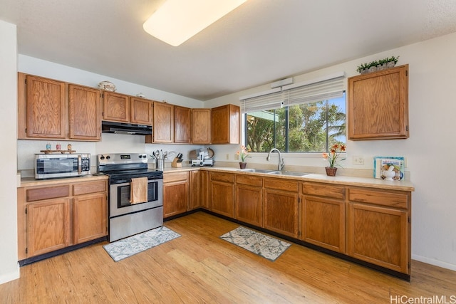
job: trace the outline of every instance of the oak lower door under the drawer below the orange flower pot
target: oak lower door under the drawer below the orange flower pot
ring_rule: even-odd
[[[303,196],[301,234],[303,241],[345,253],[345,201]]]

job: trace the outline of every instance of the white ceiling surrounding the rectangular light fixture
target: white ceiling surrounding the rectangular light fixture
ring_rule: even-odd
[[[20,54],[197,100],[456,31],[454,0],[249,0],[174,47],[142,29],[164,1],[0,0],[0,19]]]

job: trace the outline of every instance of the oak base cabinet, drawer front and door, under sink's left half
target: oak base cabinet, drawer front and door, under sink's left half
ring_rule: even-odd
[[[234,219],[263,226],[263,178],[236,175]]]

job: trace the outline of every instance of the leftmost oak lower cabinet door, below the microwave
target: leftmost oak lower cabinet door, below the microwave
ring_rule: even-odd
[[[52,199],[27,205],[28,257],[69,245],[69,199]]]

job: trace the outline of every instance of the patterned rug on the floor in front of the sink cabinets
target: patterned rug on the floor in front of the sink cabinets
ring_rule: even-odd
[[[270,261],[276,261],[276,258],[279,258],[291,245],[245,227],[237,227],[237,229],[220,236],[220,239],[234,243],[234,245],[247,249]]]

